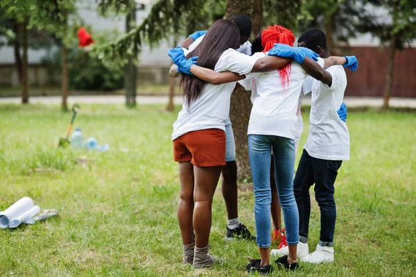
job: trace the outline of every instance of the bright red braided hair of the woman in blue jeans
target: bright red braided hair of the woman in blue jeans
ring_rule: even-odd
[[[268,26],[266,30],[261,32],[261,45],[263,45],[263,52],[267,52],[272,49],[273,44],[275,43],[288,44],[293,47],[293,42],[295,42],[295,35],[293,35],[291,30],[282,26]],[[287,92],[292,65],[289,62],[287,65],[278,70],[281,86],[283,87],[283,90]]]

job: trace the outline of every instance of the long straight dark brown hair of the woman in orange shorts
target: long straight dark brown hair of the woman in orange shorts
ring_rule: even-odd
[[[223,52],[229,48],[237,49],[239,44],[239,28],[229,20],[220,19],[209,27],[202,42],[187,55],[187,58],[198,56],[197,65],[214,70]],[[198,99],[207,83],[193,75],[181,75],[180,85],[184,92],[184,98],[187,105],[191,106],[191,103]]]

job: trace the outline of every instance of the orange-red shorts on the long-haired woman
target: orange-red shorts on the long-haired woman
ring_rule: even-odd
[[[173,160],[197,167],[225,165],[225,132],[205,129],[186,133],[173,140]]]

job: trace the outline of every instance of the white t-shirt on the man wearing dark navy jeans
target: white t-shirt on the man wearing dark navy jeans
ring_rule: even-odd
[[[343,103],[347,76],[340,65],[327,68],[327,72],[332,76],[331,87],[313,81],[311,125],[304,149],[314,158],[349,160],[348,127],[337,112]]]

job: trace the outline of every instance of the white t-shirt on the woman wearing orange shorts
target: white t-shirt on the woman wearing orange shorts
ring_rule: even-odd
[[[236,72],[240,75],[252,71],[258,58],[246,56],[234,49],[228,49],[218,59],[214,71]],[[188,106],[182,105],[177,120],[173,123],[172,140],[191,131],[218,128],[225,131],[229,118],[229,101],[236,82],[222,85],[207,83],[200,97]]]

